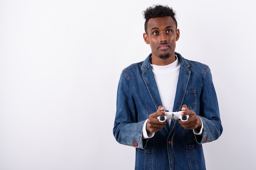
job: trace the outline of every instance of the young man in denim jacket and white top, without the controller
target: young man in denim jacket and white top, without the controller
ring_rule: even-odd
[[[136,148],[136,170],[204,170],[202,143],[222,133],[210,69],[175,52],[180,31],[172,8],[149,7],[144,17],[151,53],[121,73],[114,136]],[[189,118],[160,122],[164,110]]]

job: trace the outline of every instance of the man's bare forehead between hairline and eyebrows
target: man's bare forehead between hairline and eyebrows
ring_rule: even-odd
[[[173,20],[173,18],[170,16],[150,18],[148,20],[148,29],[147,29],[148,31],[154,28],[166,28],[166,27],[176,28],[176,23]]]

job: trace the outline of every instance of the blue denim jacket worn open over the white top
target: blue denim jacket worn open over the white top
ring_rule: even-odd
[[[120,144],[136,148],[136,170],[204,170],[205,161],[202,143],[211,142],[222,133],[216,92],[207,65],[184,59],[180,60],[173,111],[186,104],[200,116],[204,125],[202,135],[182,128],[177,120],[173,137],[173,152],[170,145],[174,124],[168,124],[150,139],[142,139],[142,128],[151,113],[162,105],[157,84],[150,66],[151,54],[145,61],[125,68],[117,89],[117,111],[113,134]],[[174,159],[175,158],[175,159]]]

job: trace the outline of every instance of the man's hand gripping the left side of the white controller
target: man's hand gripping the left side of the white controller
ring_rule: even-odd
[[[164,111],[164,107],[159,106],[157,111],[155,113],[151,113],[148,118],[148,122],[146,124],[146,130],[148,133],[156,133],[157,131],[160,131],[163,129],[165,122],[159,122],[157,119],[157,116],[166,116],[167,113],[161,112]]]

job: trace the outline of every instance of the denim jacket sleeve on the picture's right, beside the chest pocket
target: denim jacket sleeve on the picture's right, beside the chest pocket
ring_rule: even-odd
[[[218,139],[223,129],[220,121],[217,95],[209,68],[207,68],[204,74],[202,92],[200,95],[199,116],[204,128],[201,136],[195,135],[197,142],[202,144]]]

